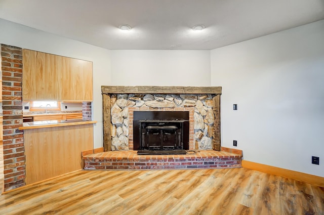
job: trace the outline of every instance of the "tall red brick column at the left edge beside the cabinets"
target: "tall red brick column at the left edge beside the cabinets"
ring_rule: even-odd
[[[22,49],[1,45],[5,191],[25,185],[22,126]]]

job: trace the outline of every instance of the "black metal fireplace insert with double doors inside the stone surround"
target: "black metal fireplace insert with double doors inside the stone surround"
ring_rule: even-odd
[[[134,150],[188,150],[188,111],[134,111]]]

